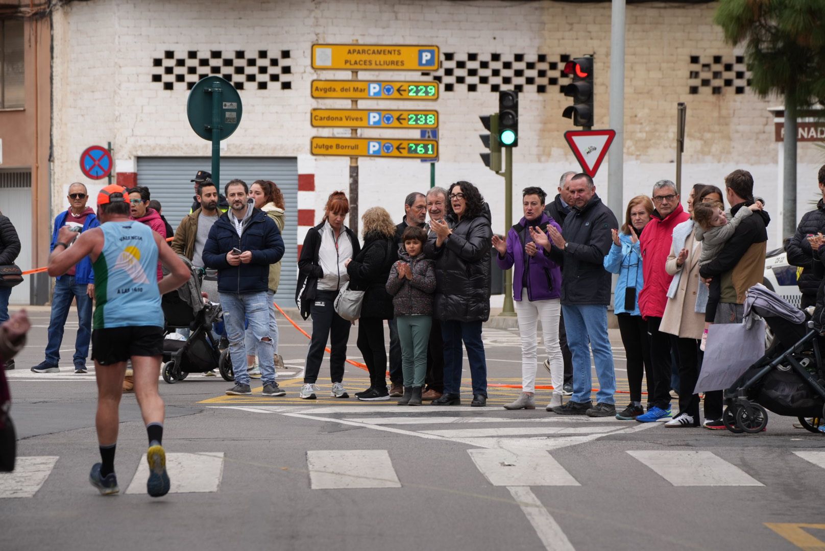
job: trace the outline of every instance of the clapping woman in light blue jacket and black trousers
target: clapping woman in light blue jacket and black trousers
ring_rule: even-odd
[[[625,345],[630,403],[616,413],[616,419],[632,421],[644,413],[642,407],[642,375],[650,365],[650,342],[647,323],[639,313],[639,291],[644,285],[639,236],[653,213],[653,201],[647,195],[637,195],[627,204],[625,224],[613,230],[613,245],[605,257],[605,270],[619,274],[613,302],[613,312],[619,319],[619,332]],[[648,396],[651,395],[648,378]]]

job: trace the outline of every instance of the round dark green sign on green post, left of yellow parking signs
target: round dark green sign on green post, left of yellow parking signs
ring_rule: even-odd
[[[195,134],[212,142],[212,181],[220,186],[220,140],[241,123],[243,105],[232,83],[224,78],[201,78],[189,92],[186,116]]]

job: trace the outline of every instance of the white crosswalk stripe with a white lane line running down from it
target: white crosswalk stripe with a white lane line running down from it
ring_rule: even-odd
[[[507,450],[467,450],[493,486],[581,486],[546,451],[514,454]]]

